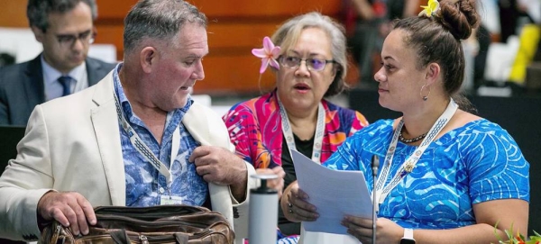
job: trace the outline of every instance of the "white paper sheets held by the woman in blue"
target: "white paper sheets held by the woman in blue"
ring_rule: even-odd
[[[321,166],[296,150],[291,150],[298,187],[308,194],[319,218],[303,221],[308,231],[347,234],[340,224],[344,215],[372,218],[371,195],[361,171],[334,170]]]

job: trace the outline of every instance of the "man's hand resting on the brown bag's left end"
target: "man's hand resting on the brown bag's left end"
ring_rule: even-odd
[[[82,194],[75,192],[43,194],[38,202],[38,214],[46,221],[59,221],[74,235],[88,234],[87,221],[90,225],[96,224],[94,208]]]

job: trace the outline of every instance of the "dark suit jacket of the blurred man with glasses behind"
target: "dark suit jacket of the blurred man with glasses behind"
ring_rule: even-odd
[[[94,86],[115,64],[87,58],[88,86]],[[41,55],[30,61],[0,68],[0,124],[26,126],[37,104],[45,103]]]

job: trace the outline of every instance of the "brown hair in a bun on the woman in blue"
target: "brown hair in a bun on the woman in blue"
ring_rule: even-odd
[[[437,63],[442,68],[445,92],[459,101],[464,77],[462,40],[470,37],[472,29],[479,26],[480,17],[475,11],[474,0],[442,0],[440,10],[432,17],[425,15],[397,20],[394,30],[405,31],[404,43],[417,52],[417,68]]]

